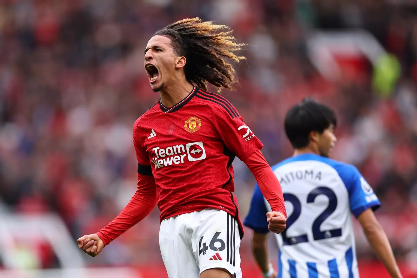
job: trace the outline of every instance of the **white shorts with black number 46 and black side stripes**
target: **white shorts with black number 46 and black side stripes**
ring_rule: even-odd
[[[162,220],[159,246],[169,278],[199,278],[210,268],[242,277],[239,224],[224,210],[207,208]]]

